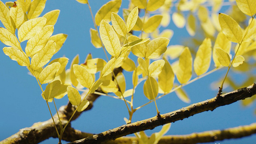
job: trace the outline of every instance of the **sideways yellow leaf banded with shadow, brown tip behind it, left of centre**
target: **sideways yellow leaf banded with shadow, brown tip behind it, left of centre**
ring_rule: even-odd
[[[106,65],[106,61],[101,58],[93,58],[86,60],[82,66],[86,68],[89,73],[97,73],[98,71],[102,71],[103,67]]]

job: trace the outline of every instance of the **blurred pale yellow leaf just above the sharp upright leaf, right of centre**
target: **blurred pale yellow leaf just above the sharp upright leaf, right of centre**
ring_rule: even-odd
[[[182,45],[171,45],[167,47],[165,53],[163,53],[163,57],[169,56],[171,60],[180,56],[184,46]]]

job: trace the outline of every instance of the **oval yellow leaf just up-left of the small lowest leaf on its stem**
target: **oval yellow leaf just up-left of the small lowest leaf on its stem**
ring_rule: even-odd
[[[69,102],[74,106],[78,106],[79,103],[81,102],[81,95],[79,94],[79,91],[72,86],[68,86],[67,92],[68,92]]]

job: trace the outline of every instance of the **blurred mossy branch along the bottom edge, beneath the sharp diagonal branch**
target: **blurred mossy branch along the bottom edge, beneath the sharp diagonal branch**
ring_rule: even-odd
[[[80,132],[79,130],[76,135],[72,137],[66,137],[66,141],[70,141],[73,137],[88,136],[88,133]],[[223,130],[210,130],[199,133],[191,133],[185,135],[169,135],[163,136],[158,144],[195,144],[195,143],[207,143],[224,139],[237,139],[245,136],[250,136],[256,133],[256,123],[251,125],[238,126],[234,128],[228,128]],[[92,135],[92,134],[91,134]],[[149,139],[149,137],[148,137]],[[107,144],[132,144],[138,143],[137,137],[120,137],[116,140],[106,142]]]

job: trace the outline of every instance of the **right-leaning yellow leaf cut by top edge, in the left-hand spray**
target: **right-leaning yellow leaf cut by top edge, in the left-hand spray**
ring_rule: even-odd
[[[37,18],[45,8],[46,0],[33,0],[29,12],[27,13],[28,19]]]

